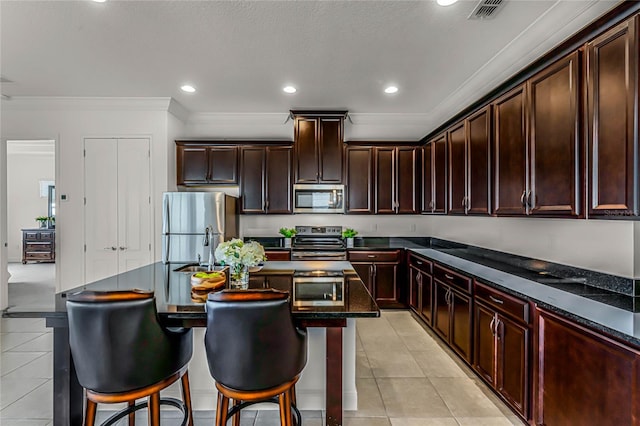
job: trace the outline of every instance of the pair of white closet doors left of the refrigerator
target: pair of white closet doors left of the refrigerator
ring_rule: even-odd
[[[148,139],[85,139],[85,282],[151,262]]]

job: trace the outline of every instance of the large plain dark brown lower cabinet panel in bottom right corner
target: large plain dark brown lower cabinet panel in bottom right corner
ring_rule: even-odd
[[[640,351],[537,308],[535,424],[639,425]]]

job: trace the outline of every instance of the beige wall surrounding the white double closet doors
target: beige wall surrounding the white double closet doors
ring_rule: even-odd
[[[151,188],[154,209],[154,259],[159,259],[162,192],[169,169],[169,98],[162,99],[13,99],[3,102],[1,138],[57,141],[56,287],[64,290],[84,283],[84,157],[88,137],[146,137],[151,140]],[[174,125],[175,127],[175,125]],[[175,180],[175,178],[173,178]]]

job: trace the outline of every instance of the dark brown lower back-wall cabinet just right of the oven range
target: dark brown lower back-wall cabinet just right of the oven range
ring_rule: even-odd
[[[348,259],[381,308],[401,308],[400,250],[349,251]]]

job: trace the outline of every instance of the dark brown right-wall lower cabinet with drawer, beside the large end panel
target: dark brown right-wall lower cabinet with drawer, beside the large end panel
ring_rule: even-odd
[[[529,417],[529,304],[475,284],[474,370],[524,419]]]

